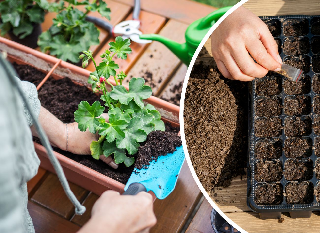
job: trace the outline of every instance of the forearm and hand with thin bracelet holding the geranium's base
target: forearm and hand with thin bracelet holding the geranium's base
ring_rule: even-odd
[[[108,120],[108,114],[103,114]],[[86,130],[84,132],[78,129],[78,123],[69,124],[62,123],[57,117],[52,115],[47,109],[41,106],[39,122],[44,128],[52,146],[59,147],[61,150],[67,149],[67,127],[68,127],[68,151],[73,154],[90,155],[90,144],[92,141],[98,141],[99,134],[93,134]],[[33,136],[37,136],[36,129],[31,126]],[[110,167],[117,169],[118,164],[109,156],[104,155],[100,159],[107,163]]]

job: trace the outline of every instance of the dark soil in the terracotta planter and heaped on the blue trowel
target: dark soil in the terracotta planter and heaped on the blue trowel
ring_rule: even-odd
[[[19,65],[15,67],[20,70],[28,71],[28,76],[23,76],[24,72],[20,71],[21,77],[24,80],[31,81],[34,79],[34,77],[44,77],[44,74],[41,71],[33,69],[28,65]],[[64,123],[74,122],[74,112],[76,111],[76,109],[78,109],[78,104],[80,103],[80,101],[86,100],[90,104],[92,104],[94,101],[100,99],[98,95],[93,94],[87,87],[75,85],[69,78],[59,80],[49,78],[41,87],[38,93],[38,98],[44,108],[48,109],[53,115],[55,115]],[[175,149],[175,147],[173,149],[174,145],[181,145],[180,136],[178,136],[176,133],[172,133],[179,132],[179,127],[172,127],[171,125],[166,124],[166,130],[169,132],[159,131],[159,133],[158,131],[156,131],[152,134],[149,134],[147,141],[144,142],[144,145],[146,145],[148,143],[148,140],[150,140],[150,145],[153,145],[152,142],[158,141],[159,148],[156,149],[156,147],[152,147],[152,149],[149,150],[149,152],[156,150],[156,157],[159,155],[163,155],[166,151],[173,152]],[[163,140],[159,140],[159,138],[162,138]],[[39,139],[35,138],[35,140],[36,142],[40,143]],[[164,147],[163,143],[169,144],[166,144],[166,147]],[[141,149],[142,151],[140,151],[141,147],[139,148],[138,153],[140,153],[140,156],[147,157],[147,155],[143,153],[143,151],[147,151],[147,147],[148,146],[144,146]],[[113,169],[105,162],[94,159],[91,155],[72,154],[70,152],[60,150],[57,147],[53,147],[53,149],[54,151],[63,154],[68,158],[79,162],[93,170],[96,170],[101,174],[113,178],[123,184],[128,181],[135,167],[134,165],[130,168],[127,168],[123,163],[121,163],[119,164],[118,169]],[[127,154],[127,156],[131,155]],[[141,164],[143,163],[139,162],[137,163],[137,166],[141,166]]]

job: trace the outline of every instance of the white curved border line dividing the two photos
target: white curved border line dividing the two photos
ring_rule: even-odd
[[[181,132],[181,140],[182,140],[182,146],[183,146],[183,151],[184,154],[186,155],[186,160],[189,166],[189,169],[191,171],[191,174],[193,176],[193,178],[196,181],[196,184],[198,185],[199,189],[201,190],[202,194],[204,195],[204,197],[209,201],[209,203],[212,205],[212,207],[227,221],[229,222],[233,227],[235,227],[237,230],[239,230],[242,233],[245,233],[247,231],[245,231],[244,229],[242,229],[241,227],[239,227],[235,222],[233,222],[226,214],[224,214],[219,207],[213,202],[213,200],[209,197],[209,194],[204,190],[204,187],[202,186],[202,184],[200,183],[199,178],[196,175],[196,171],[192,166],[191,160],[190,160],[190,156],[188,153],[188,148],[187,148],[187,143],[186,143],[186,138],[184,135],[184,124],[183,124],[183,108],[184,108],[184,98],[186,95],[186,89],[187,89],[187,84],[188,84],[188,80],[189,80],[189,76],[191,73],[191,70],[196,62],[196,59],[200,53],[200,50],[202,49],[202,47],[204,46],[204,43],[209,39],[210,35],[212,34],[212,32],[217,28],[217,26],[219,26],[219,24],[228,17],[228,15],[230,15],[233,11],[235,11],[239,6],[241,6],[242,4],[246,3],[249,0],[241,0],[240,2],[238,2],[236,5],[234,5],[230,10],[228,10],[223,16],[221,16],[220,19],[217,20],[217,22],[210,28],[210,30],[207,32],[207,34],[204,36],[204,38],[202,39],[200,45],[198,46],[198,48],[196,49],[195,54],[193,55],[191,62],[189,64],[188,70],[187,70],[187,74],[186,77],[184,79],[183,82],[183,86],[182,86],[182,93],[181,93],[181,99],[180,99],[180,132]],[[213,58],[212,58],[213,59]],[[248,233],[248,232],[247,232]]]

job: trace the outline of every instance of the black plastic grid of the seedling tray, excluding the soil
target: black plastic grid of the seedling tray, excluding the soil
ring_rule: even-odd
[[[307,158],[302,158],[302,159],[298,159],[298,161],[306,161],[306,160],[311,160],[312,161],[312,166],[313,166],[313,170],[312,170],[312,178],[309,179],[307,182],[310,182],[313,185],[313,190],[316,189],[316,186],[319,183],[319,179],[316,178],[315,176],[315,162],[318,159],[320,161],[320,157],[317,157],[315,154],[315,139],[316,137],[318,137],[319,135],[315,134],[314,130],[313,130],[313,124],[314,124],[314,119],[317,116],[314,113],[314,106],[313,106],[313,101],[314,101],[314,97],[317,94],[320,94],[320,91],[315,93],[313,91],[313,79],[315,77],[316,72],[314,72],[313,67],[312,67],[312,62],[315,60],[315,58],[320,59],[320,54],[319,54],[319,49],[320,49],[320,43],[318,43],[316,46],[313,46],[311,49],[311,42],[314,39],[320,39],[320,33],[318,32],[317,34],[312,34],[312,32],[315,33],[316,29],[316,24],[314,24],[315,22],[317,22],[317,20],[319,20],[320,24],[320,16],[306,16],[306,15],[294,15],[294,16],[275,16],[275,17],[260,17],[262,20],[267,21],[267,20],[272,20],[274,22],[277,23],[277,26],[280,27],[281,29],[281,33],[280,33],[280,29],[278,28],[278,34],[273,34],[273,36],[275,37],[276,40],[281,41],[281,45],[282,47],[279,48],[279,51],[281,49],[281,53],[279,52],[281,58],[283,59],[283,61],[285,62],[287,59],[290,59],[292,56],[289,56],[287,54],[284,54],[284,49],[283,49],[283,45],[284,45],[284,41],[289,40],[289,39],[293,39],[293,37],[291,36],[286,36],[284,35],[284,31],[285,31],[285,25],[289,22],[288,20],[290,19],[301,19],[304,26],[302,25],[300,28],[301,30],[301,34],[296,35],[296,38],[302,39],[302,40],[306,40],[308,41],[309,44],[309,49],[306,51],[305,54],[303,55],[297,55],[299,57],[299,59],[305,58],[307,60],[310,61],[310,71],[306,72],[304,71],[304,76],[308,75],[310,77],[310,90],[305,93],[305,94],[299,94],[299,95],[305,95],[308,96],[310,98],[310,102],[311,102],[311,112],[308,115],[305,116],[299,116],[301,117],[301,119],[311,119],[311,132],[308,135],[305,135],[304,137],[294,137],[294,138],[309,138],[309,140],[312,140],[312,154],[310,154],[309,157]],[[290,25],[290,24],[289,24]],[[314,27],[312,27],[314,26]],[[312,27],[312,28],[311,28]],[[299,31],[299,30],[297,30]],[[277,32],[277,31],[276,31]],[[314,53],[314,51],[316,50],[316,53]],[[299,68],[299,67],[297,67]],[[319,68],[320,69],[320,62],[319,62]],[[318,70],[316,70],[317,72],[320,72]],[[261,118],[266,118],[266,117],[260,117],[260,116],[256,116],[255,113],[255,108],[256,108],[256,101],[259,100],[260,98],[267,98],[266,96],[258,96],[256,93],[256,84],[257,82],[266,80],[266,79],[272,79],[270,78],[270,73],[262,78],[262,79],[255,79],[251,82],[252,85],[249,85],[249,93],[250,93],[250,97],[249,97],[249,140],[248,140],[248,187],[247,187],[247,204],[249,206],[250,209],[252,209],[252,211],[254,212],[258,212],[260,214],[260,218],[261,219],[268,219],[268,218],[275,218],[275,219],[279,219],[281,217],[281,212],[290,212],[290,215],[292,218],[297,218],[297,217],[310,217],[311,216],[311,211],[313,210],[320,210],[320,203],[316,200],[316,195],[315,193],[312,194],[313,196],[313,201],[309,204],[289,204],[287,203],[287,198],[286,198],[286,193],[285,193],[285,188],[286,185],[289,183],[298,183],[295,181],[289,181],[287,179],[285,179],[284,177],[284,165],[285,162],[288,159],[292,159],[292,160],[296,160],[294,158],[287,158],[286,154],[285,154],[285,140],[288,138],[287,135],[285,135],[284,132],[284,122],[286,119],[289,119],[292,116],[288,116],[284,113],[284,99],[285,98],[295,98],[295,96],[298,95],[289,95],[286,94],[284,92],[284,81],[286,78],[284,78],[284,76],[281,76],[280,74],[277,73],[272,73],[273,76],[279,77],[279,85],[280,85],[280,90],[281,93],[279,93],[278,95],[275,95],[273,97],[276,97],[280,100],[280,103],[282,104],[282,110],[281,110],[281,115],[280,116],[272,116],[273,117],[277,117],[279,119],[281,119],[281,135],[275,138],[259,138],[255,135],[255,122]],[[303,78],[303,77],[302,77]],[[300,82],[302,81],[302,79],[300,79]],[[270,97],[270,96],[268,96]],[[319,96],[320,97],[320,96]],[[268,117],[267,117],[268,118]],[[280,157],[277,159],[268,159],[269,161],[279,161],[281,162],[281,168],[282,168],[282,178],[276,182],[258,182],[257,180],[255,180],[255,166],[256,163],[259,161],[266,161],[265,159],[257,159],[255,156],[255,150],[256,150],[256,144],[261,140],[274,140],[274,139],[280,139],[280,142],[282,143],[282,154],[279,155]],[[320,137],[319,137],[320,139]],[[320,153],[318,154],[318,156],[320,156]],[[302,182],[306,182],[306,181],[302,181]],[[301,183],[301,182],[300,182]],[[277,204],[277,205],[258,205],[255,202],[255,190],[258,186],[261,185],[266,185],[266,184],[280,184],[282,187],[282,201]],[[310,184],[310,185],[311,185]]]

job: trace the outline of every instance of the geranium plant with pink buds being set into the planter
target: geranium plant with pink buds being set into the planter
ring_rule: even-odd
[[[75,121],[81,131],[89,129],[90,132],[98,132],[100,138],[91,143],[91,155],[99,159],[100,155],[106,157],[114,155],[116,163],[124,162],[129,167],[134,163],[134,157],[128,154],[136,154],[140,142],[147,139],[147,135],[154,130],[164,131],[164,122],[160,113],[151,104],[146,106],[143,100],[148,99],[152,90],[146,86],[143,78],[132,78],[129,81],[129,90],[122,86],[122,80],[126,74],[121,71],[118,74],[118,64],[113,61],[114,56],[126,59],[131,53],[130,40],[116,37],[115,42],[109,43],[110,48],[101,57],[102,62],[97,65],[92,56],[92,51],[83,51],[79,58],[83,59],[82,66],[86,67],[91,59],[96,71],[90,74],[88,83],[92,84],[94,93],[102,93],[101,100],[105,106],[101,106],[99,101],[90,105],[87,101],[81,101],[78,110],[75,111]],[[113,76],[116,86],[112,85],[108,79]],[[111,87],[108,92],[107,86]],[[108,120],[101,114],[105,107],[108,109]]]

